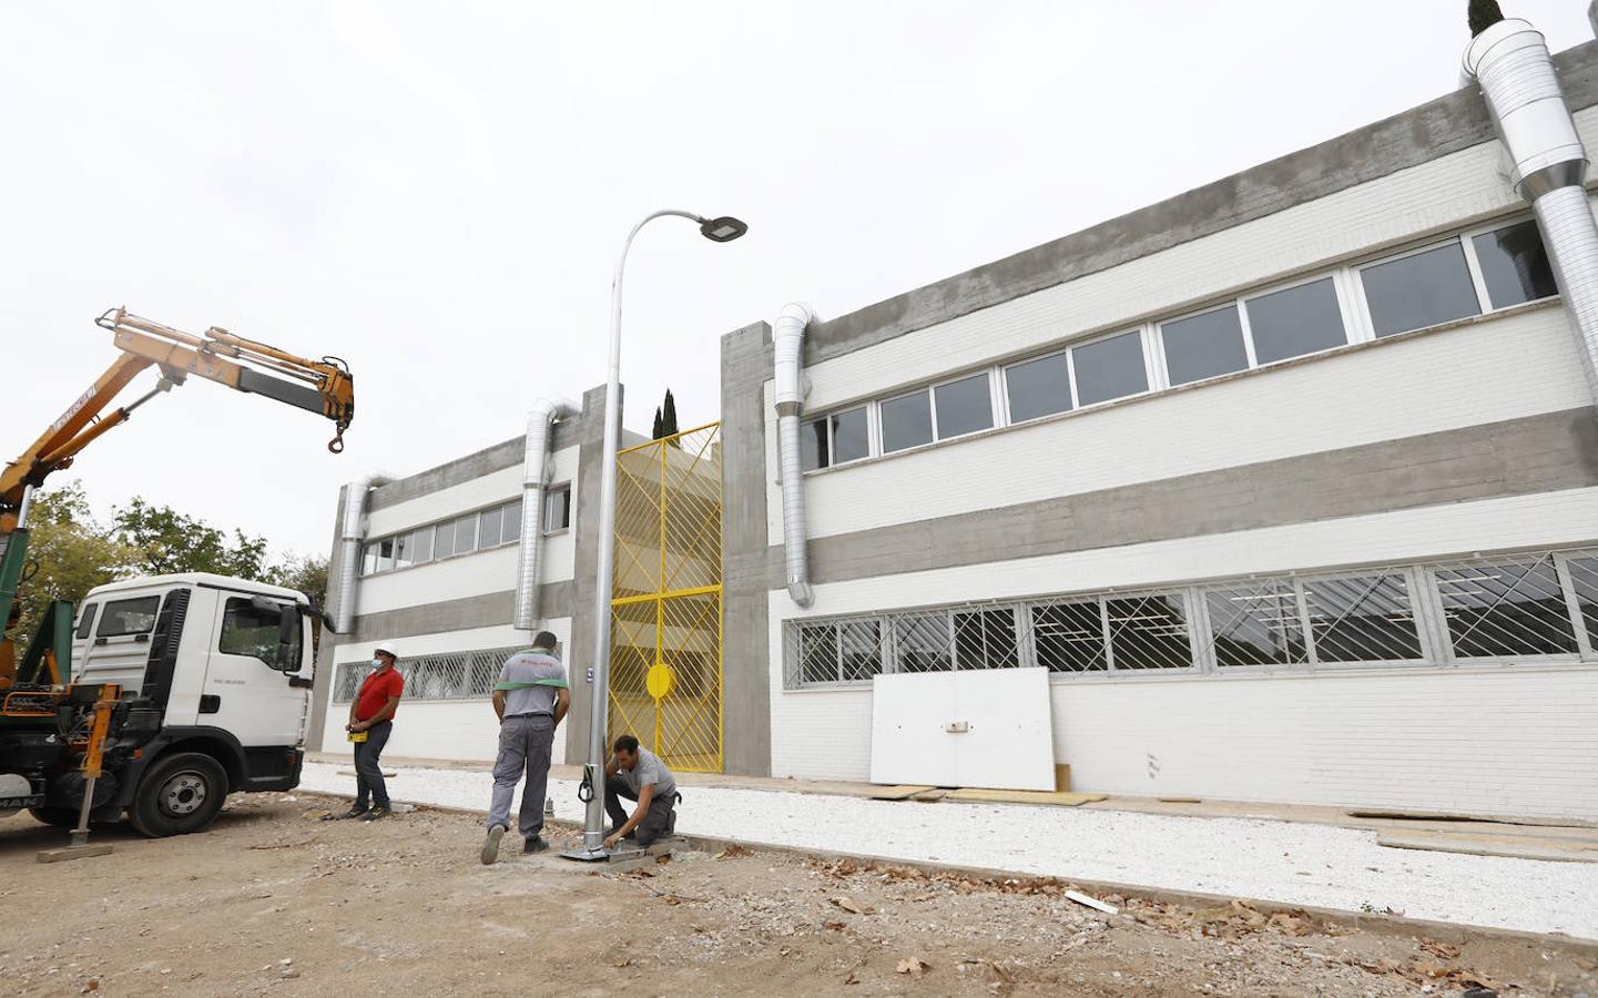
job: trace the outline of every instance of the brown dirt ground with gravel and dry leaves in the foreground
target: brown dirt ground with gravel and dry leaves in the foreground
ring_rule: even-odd
[[[0,821],[0,993],[16,995],[1593,995],[1556,941],[1453,947],[1309,917],[1117,899],[781,853],[601,872],[478,862],[470,814],[321,822],[344,802],[233,797],[203,835]],[[556,834],[570,845],[574,834]],[[1481,993],[1481,992],[1478,992]]]

